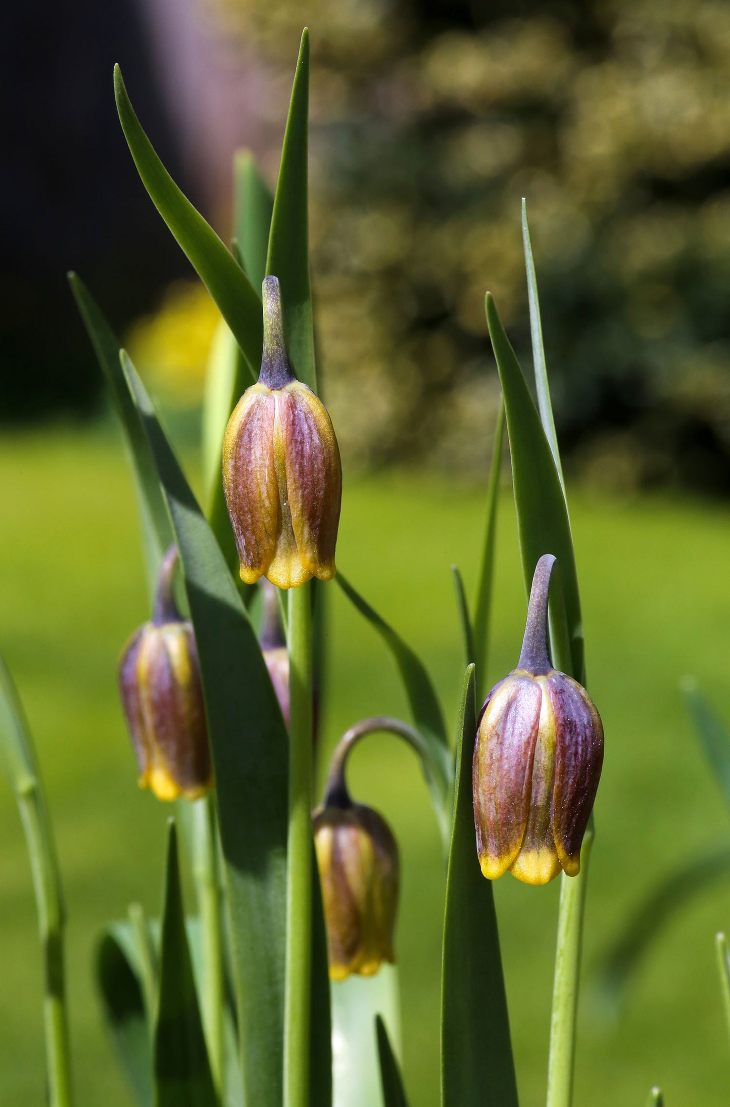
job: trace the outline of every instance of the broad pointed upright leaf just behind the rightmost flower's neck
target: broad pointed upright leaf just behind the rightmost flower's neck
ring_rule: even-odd
[[[560,589],[555,587],[551,589],[550,629],[553,663],[581,684],[585,684],[581,597],[563,488],[540,415],[490,292],[487,293],[486,308],[487,323],[504,395],[525,588],[529,592],[532,575],[542,555],[553,554],[557,558],[562,586]],[[565,620],[566,640],[562,633],[563,620]]]

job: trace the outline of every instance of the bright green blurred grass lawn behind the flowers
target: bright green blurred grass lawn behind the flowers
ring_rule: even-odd
[[[346,478],[346,474],[345,474]],[[143,794],[116,696],[116,661],[147,618],[133,495],[119,443],[98,432],[0,439],[0,649],[34,733],[69,908],[67,962],[77,1103],[129,1105],[100,1022],[92,956],[107,919],[139,900],[157,913],[165,805]],[[572,497],[591,692],[606,761],[585,942],[586,974],[643,889],[729,835],[722,799],[678,692],[698,676],[730,718],[730,509],[687,500]],[[419,651],[456,718],[461,680],[449,566],[473,589],[483,490],[423,476],[345,480],[337,562]],[[331,589],[325,747],[371,714],[407,708],[389,656]],[[517,662],[525,598],[504,494],[490,675]],[[444,870],[413,755],[386,737],[353,761],[354,795],[378,807],[401,847],[398,930],[405,1077],[414,1107],[438,1104]],[[44,1101],[41,965],[24,842],[0,784],[0,1103]],[[544,1100],[559,882],[496,886],[522,1107]],[[661,934],[624,1017],[584,1004],[576,1104],[728,1103],[730,1051],[713,935],[730,927],[720,882]],[[252,1105],[254,1107],[254,1105]]]

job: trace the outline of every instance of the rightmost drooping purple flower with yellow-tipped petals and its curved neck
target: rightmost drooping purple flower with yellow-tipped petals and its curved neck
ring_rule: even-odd
[[[491,690],[479,718],[473,803],[481,871],[508,869],[544,884],[581,868],[581,845],[603,765],[603,725],[584,687],[552,668],[548,591],[552,555],[535,568],[518,668]]]

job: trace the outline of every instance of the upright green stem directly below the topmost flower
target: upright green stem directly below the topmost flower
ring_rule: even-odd
[[[312,975],[312,596],[289,592],[289,836],[284,1107],[309,1107]]]

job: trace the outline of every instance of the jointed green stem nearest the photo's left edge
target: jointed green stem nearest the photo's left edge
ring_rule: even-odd
[[[51,1107],[71,1107],[71,1065],[63,964],[64,910],[45,806],[38,778],[29,776],[17,792],[28,841],[45,966],[43,1026]]]

